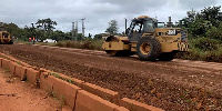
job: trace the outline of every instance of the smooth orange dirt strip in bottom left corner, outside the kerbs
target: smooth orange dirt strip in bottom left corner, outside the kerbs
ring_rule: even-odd
[[[47,92],[0,69],[0,111],[71,111]]]

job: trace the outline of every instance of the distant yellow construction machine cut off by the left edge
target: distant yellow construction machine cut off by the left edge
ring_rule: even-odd
[[[0,43],[13,44],[13,38],[10,36],[7,28],[0,28]]]

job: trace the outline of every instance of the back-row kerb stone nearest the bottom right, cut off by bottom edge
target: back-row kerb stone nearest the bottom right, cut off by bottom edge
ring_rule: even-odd
[[[130,111],[164,111],[159,108],[148,105],[128,98],[121,99],[119,105],[124,107]]]

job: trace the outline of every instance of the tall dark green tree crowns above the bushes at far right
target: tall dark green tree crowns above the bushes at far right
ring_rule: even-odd
[[[216,33],[214,34],[216,38],[220,38],[220,32],[215,32],[222,22],[222,12],[220,8],[221,7],[208,7],[200,12],[192,9],[188,11],[188,17],[183,18],[179,26],[181,28],[188,28],[192,38],[208,37],[212,31]],[[211,30],[211,32],[209,30]]]

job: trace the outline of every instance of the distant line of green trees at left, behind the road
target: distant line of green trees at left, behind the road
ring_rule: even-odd
[[[28,41],[29,38],[36,38],[44,40],[47,38],[54,39],[57,41],[72,40],[71,32],[63,32],[60,30],[54,30],[58,23],[50,18],[39,19],[36,23],[31,23],[29,27],[19,28],[16,23],[4,23],[0,22],[0,27],[8,28],[8,31],[12,37],[19,38],[21,41]],[[78,40],[85,40],[81,33],[78,34]]]

